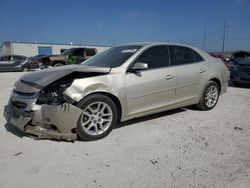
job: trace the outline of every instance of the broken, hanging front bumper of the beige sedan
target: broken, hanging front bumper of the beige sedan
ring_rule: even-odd
[[[75,140],[74,129],[82,110],[68,103],[62,105],[36,105],[35,110],[20,109],[10,99],[4,107],[7,122],[19,130],[39,138]]]

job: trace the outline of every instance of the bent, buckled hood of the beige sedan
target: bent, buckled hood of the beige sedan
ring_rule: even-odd
[[[78,73],[109,73],[111,68],[107,67],[91,67],[84,65],[67,65],[56,68],[49,68],[29,74],[25,74],[21,77],[21,81],[36,85],[43,88],[54,81],[67,76],[73,72]]]

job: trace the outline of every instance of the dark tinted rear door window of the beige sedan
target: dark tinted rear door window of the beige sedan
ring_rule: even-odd
[[[186,65],[195,62],[193,50],[183,46],[170,46],[171,65]]]

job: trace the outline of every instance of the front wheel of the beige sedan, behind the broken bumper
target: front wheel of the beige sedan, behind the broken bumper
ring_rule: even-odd
[[[77,106],[83,110],[76,128],[82,140],[92,141],[106,137],[117,122],[116,106],[105,95],[89,95]]]

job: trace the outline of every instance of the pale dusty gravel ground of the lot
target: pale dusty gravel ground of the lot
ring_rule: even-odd
[[[172,110],[71,143],[6,124],[3,106],[22,74],[0,73],[1,188],[250,187],[250,88],[229,87],[211,111]]]

